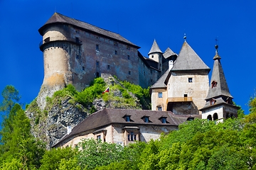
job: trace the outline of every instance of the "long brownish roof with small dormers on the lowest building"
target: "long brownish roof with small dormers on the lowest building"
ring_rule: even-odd
[[[130,122],[124,120],[125,115],[130,115]],[[149,116],[149,123],[145,123],[142,119],[144,116]],[[137,126],[137,125],[162,125],[162,126],[178,126],[185,122],[187,118],[193,115],[174,115],[170,111],[149,111],[149,110],[127,110],[127,109],[115,109],[104,108],[102,111],[92,113],[79,125],[76,125],[70,134],[65,135],[60,142],[66,140],[75,135],[79,135],[87,130],[95,130],[105,128],[107,125],[113,123],[119,123],[125,126]],[[159,118],[166,118],[167,123],[161,123]],[[58,145],[53,145],[55,147]]]

